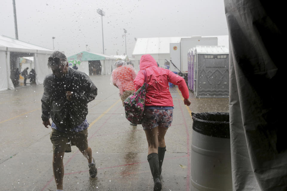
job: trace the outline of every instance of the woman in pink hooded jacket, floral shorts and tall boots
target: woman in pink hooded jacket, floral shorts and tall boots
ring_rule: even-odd
[[[154,191],[161,190],[161,166],[164,160],[166,145],[164,135],[172,123],[173,101],[169,91],[169,82],[178,86],[184,97],[184,104],[190,105],[189,91],[184,79],[170,70],[158,67],[155,59],[149,54],[140,60],[140,71],[134,80],[135,90],[144,84],[146,70],[145,111],[142,126],[149,145],[147,160],[154,180]]]

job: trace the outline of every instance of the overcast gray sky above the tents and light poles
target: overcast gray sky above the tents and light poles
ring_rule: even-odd
[[[227,35],[223,0],[15,0],[19,40],[65,51],[66,56],[86,50],[127,54],[135,38]],[[12,0],[1,0],[0,35],[15,38]]]

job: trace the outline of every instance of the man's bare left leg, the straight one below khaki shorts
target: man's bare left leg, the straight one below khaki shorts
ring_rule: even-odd
[[[53,154],[53,172],[57,185],[57,189],[63,190],[63,177],[64,177],[64,165],[63,158],[65,152]]]

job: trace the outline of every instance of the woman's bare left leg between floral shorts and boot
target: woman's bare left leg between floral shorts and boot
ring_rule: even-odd
[[[158,154],[158,127],[144,130],[146,133],[147,144],[149,145],[148,155],[151,153]]]

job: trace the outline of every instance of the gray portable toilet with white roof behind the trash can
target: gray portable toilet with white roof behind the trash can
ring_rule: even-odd
[[[197,98],[229,97],[229,50],[225,46],[196,46],[194,87]]]

